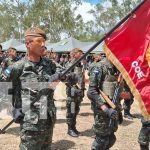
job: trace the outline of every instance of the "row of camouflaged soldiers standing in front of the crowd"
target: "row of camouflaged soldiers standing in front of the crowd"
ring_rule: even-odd
[[[5,63],[0,75],[1,81],[12,81],[13,83],[13,118],[16,123],[20,124],[20,150],[51,149],[53,128],[56,120],[56,108],[53,99],[54,88],[41,88],[44,87],[43,82],[49,83],[57,80],[65,82],[68,134],[72,137],[80,135],[76,129],[76,118],[85,92],[84,70],[81,63],[78,63],[67,75],[63,75],[62,72],[65,68],[72,66],[82,56],[83,52],[79,48],[73,49],[70,52],[72,59],[68,61],[65,68],[62,68],[53,60],[44,57],[45,40],[46,34],[43,30],[34,27],[29,28],[25,32],[27,55],[16,63],[14,63],[13,59],[7,60],[6,62],[9,62],[9,64]],[[101,91],[112,100],[119,73],[107,59],[101,60],[100,54],[95,54],[94,58],[95,61],[89,68],[89,88],[87,91],[95,120],[93,125],[95,140],[91,149],[109,150],[116,141],[114,133],[118,129],[118,111],[110,107],[102,97]],[[29,84],[26,85],[25,89],[23,89],[24,82]],[[41,85],[40,89],[32,86],[34,82],[37,82],[38,86]],[[123,90],[130,92],[127,85],[124,86]],[[29,92],[30,100],[27,97]],[[43,95],[47,97],[46,107],[45,105],[42,107]],[[133,118],[130,114],[132,103],[133,96],[130,92],[130,96],[124,101],[124,117],[128,119]],[[29,108],[28,105],[30,105],[30,109],[26,109]],[[41,107],[42,111],[45,111],[45,119],[40,118]],[[147,124],[148,122],[145,125],[145,121],[143,121],[139,136],[141,150],[147,150],[149,145],[150,131]],[[147,134],[144,134],[145,132]]]

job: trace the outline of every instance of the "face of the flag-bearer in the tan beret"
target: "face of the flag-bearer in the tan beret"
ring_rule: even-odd
[[[30,37],[26,43],[30,54],[40,57],[45,53],[45,39],[43,37]]]

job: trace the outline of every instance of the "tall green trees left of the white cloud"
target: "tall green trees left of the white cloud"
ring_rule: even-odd
[[[23,32],[31,26],[43,28],[51,42],[59,41],[61,33],[76,36],[84,26],[81,15],[74,15],[80,4],[80,0],[2,0],[0,40],[11,37],[22,39]]]

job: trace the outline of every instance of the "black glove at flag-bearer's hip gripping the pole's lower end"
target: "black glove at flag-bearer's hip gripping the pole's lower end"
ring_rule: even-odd
[[[20,123],[23,120],[24,114],[22,113],[21,108],[14,108],[12,114],[15,123]]]

